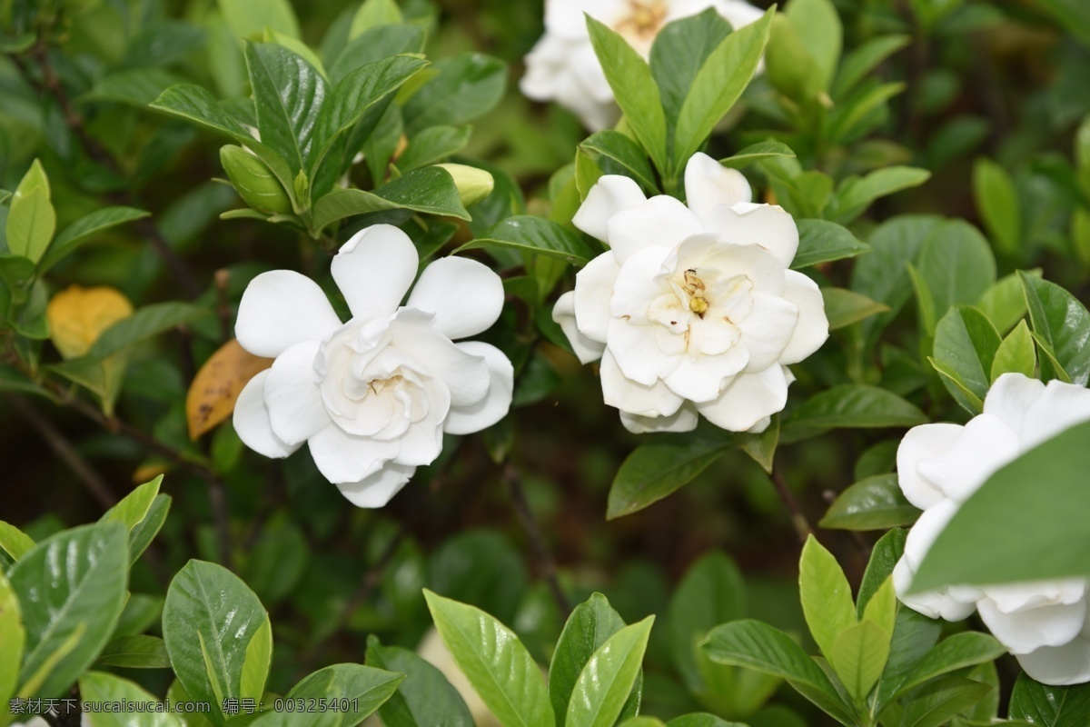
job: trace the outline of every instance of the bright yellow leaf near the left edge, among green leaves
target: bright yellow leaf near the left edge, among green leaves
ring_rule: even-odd
[[[107,286],[69,286],[46,307],[49,337],[65,359],[85,355],[104,330],[132,314],[129,299]]]

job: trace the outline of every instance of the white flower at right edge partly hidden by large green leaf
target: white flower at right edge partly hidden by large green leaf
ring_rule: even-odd
[[[1090,581],[1067,579],[989,586],[952,586],[906,595],[931,545],[961,504],[989,476],[1064,429],[1090,420],[1090,389],[1022,374],[1004,374],[984,399],[984,411],[965,426],[924,424],[897,449],[905,497],[923,514],[894,569],[901,602],[931,618],[956,621],[974,610],[1021,664],[1046,684],[1090,681]],[[1032,486],[1032,483],[1026,483]],[[981,547],[988,547],[982,543]]]

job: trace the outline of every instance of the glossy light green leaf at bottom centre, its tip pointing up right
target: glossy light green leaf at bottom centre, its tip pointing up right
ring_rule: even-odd
[[[654,616],[609,637],[583,667],[568,702],[566,727],[613,727],[640,676]]]

